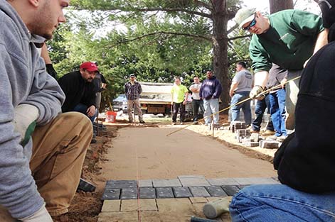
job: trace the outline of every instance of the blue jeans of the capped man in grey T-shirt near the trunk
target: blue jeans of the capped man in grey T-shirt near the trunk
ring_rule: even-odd
[[[239,101],[243,101],[244,99],[249,98],[250,91],[239,91],[231,97],[230,104],[236,104]],[[245,125],[250,125],[251,123],[251,109],[250,109],[250,101],[245,101],[242,104],[238,104],[230,108],[231,111],[231,120],[239,121],[240,119],[240,109],[242,109],[244,114]]]

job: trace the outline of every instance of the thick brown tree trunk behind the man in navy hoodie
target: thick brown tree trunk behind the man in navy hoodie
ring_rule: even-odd
[[[230,102],[228,79],[228,39],[225,0],[213,0],[213,73],[222,85],[220,96],[222,103],[220,109],[224,109]],[[228,113],[226,111],[225,113]]]

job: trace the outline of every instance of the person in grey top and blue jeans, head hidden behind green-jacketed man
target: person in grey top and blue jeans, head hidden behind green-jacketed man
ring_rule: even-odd
[[[275,135],[270,139],[282,142],[287,138],[285,128],[285,98],[286,91],[284,83],[287,81],[287,70],[282,69],[279,65],[273,64],[269,71],[268,86],[269,89],[280,85],[280,87],[270,91],[270,113],[275,128]]]

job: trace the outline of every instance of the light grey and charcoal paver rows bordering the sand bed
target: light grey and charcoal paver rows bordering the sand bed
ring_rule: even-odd
[[[102,200],[233,196],[250,184],[276,184],[277,178],[179,176],[178,179],[108,180]]]

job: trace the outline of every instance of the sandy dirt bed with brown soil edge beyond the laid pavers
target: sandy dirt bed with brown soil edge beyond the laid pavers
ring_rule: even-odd
[[[119,121],[118,125],[107,126],[107,131],[100,132],[97,143],[87,151],[82,178],[97,189],[75,194],[68,213],[70,222],[97,221],[108,179],[275,176],[270,162],[258,159],[257,155],[243,155],[235,146],[229,148],[206,135],[186,129],[166,136],[177,128],[156,123],[146,126],[125,123]]]

